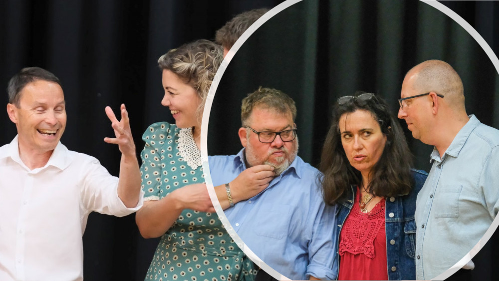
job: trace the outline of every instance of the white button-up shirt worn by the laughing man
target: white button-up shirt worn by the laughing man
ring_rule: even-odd
[[[90,212],[118,217],[126,208],[113,177],[94,157],[60,142],[47,164],[30,170],[17,136],[0,147],[0,280],[83,280],[83,245]]]

